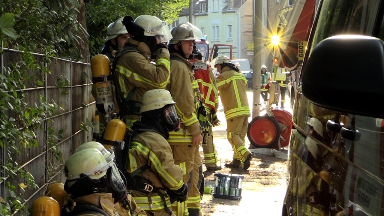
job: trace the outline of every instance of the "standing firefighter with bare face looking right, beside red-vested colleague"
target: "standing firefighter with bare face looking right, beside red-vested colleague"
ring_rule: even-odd
[[[190,182],[188,200],[184,203],[175,202],[172,204],[172,209],[176,215],[199,215],[199,187],[203,165],[199,145],[203,140],[203,130],[196,111],[200,106],[199,85],[193,77],[194,65],[189,59],[192,59],[195,40],[201,38],[203,34],[189,22],[177,25],[171,32],[173,38],[168,42],[171,72],[167,89],[177,102],[175,107],[182,124],[179,131],[169,133],[168,142],[172,148],[175,164],[185,163],[184,182]]]

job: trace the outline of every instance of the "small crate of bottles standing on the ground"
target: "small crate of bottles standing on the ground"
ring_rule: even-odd
[[[241,199],[241,183],[243,175],[215,173],[213,196],[224,199]]]

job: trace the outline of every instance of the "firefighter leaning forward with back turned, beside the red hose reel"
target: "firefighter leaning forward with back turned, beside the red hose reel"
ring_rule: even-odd
[[[220,99],[227,120],[227,139],[232,145],[233,161],[226,163],[229,168],[250,166],[252,153],[244,146],[247,135],[248,117],[251,116],[247,98],[247,79],[239,72],[227,56],[213,60],[220,73],[216,78]]]

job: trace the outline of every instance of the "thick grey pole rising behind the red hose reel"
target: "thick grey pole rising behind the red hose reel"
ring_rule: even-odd
[[[253,103],[252,103],[252,118],[260,116],[260,107],[255,104],[260,103],[260,84],[262,66],[262,16],[263,16],[263,1],[253,1],[254,20],[253,20]]]

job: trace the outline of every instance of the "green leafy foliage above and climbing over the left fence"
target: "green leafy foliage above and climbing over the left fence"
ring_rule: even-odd
[[[105,43],[106,27],[114,20],[131,15],[154,15],[167,23],[173,22],[182,8],[188,7],[189,0],[84,0],[86,4],[86,26],[78,20],[79,2],[83,0],[2,0],[0,2],[0,45],[22,51],[20,61],[10,63],[10,68],[2,68],[0,73],[0,149],[6,160],[0,161],[0,185],[8,189],[7,196],[0,194],[0,215],[13,215],[24,210],[25,188],[36,188],[35,177],[23,169],[12,156],[22,154],[29,148],[41,145],[36,139],[35,130],[47,125],[49,151],[58,161],[62,161],[56,141],[61,140],[63,130],[50,127],[47,116],[54,115],[61,105],[46,101],[37,95],[34,105],[26,104],[28,96],[25,81],[31,77],[26,71],[36,71],[35,87],[44,86],[51,57],[81,60],[83,56],[76,45],[90,43],[91,56],[99,53]],[[83,14],[81,14],[83,15]],[[84,17],[84,16],[80,16]],[[88,29],[88,32],[87,32]],[[89,38],[84,35],[89,35]],[[0,53],[2,50],[0,50]],[[35,61],[31,52],[45,55],[43,62]],[[68,85],[68,80],[57,80],[56,86]],[[12,115],[10,115],[10,113]],[[10,181],[21,176],[24,182]]]

